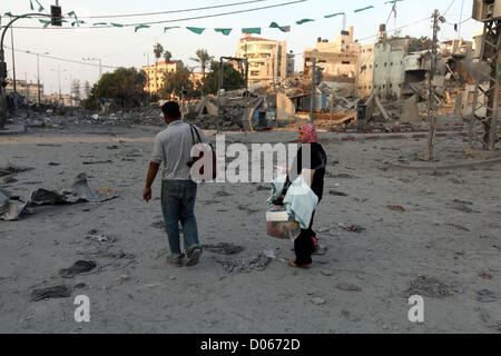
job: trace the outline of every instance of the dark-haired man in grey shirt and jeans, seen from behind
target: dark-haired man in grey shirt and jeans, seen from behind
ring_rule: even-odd
[[[195,218],[195,199],[197,185],[190,178],[190,151],[194,145],[191,128],[181,121],[179,105],[175,101],[165,103],[161,108],[168,127],[157,135],[155,139],[151,161],[143,198],[148,202],[151,199],[151,185],[157,176],[160,164],[164,162],[161,180],[161,211],[164,214],[165,229],[167,231],[171,266],[181,267],[183,257],[179,240],[179,221],[183,225],[184,244],[186,250],[186,266],[195,266],[202,255],[198,241],[197,221]],[[203,142],[207,142],[204,132],[197,127]],[[196,141],[195,141],[196,142]]]

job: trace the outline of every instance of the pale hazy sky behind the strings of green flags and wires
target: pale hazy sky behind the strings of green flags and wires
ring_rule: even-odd
[[[200,7],[215,7],[244,0],[59,0],[62,13],[75,11],[77,17],[86,22],[116,22],[121,24],[145,23],[154,21],[173,21],[207,14],[255,9],[266,6],[293,2],[294,0],[261,0],[247,1],[248,3],[206,9],[188,12],[164,13],[156,16],[135,16],[126,18],[86,19],[96,16],[121,16],[148,12],[161,12],[173,10],[186,10]],[[1,26],[7,24],[6,12],[22,14],[37,12],[38,4],[32,0],[35,11],[30,9],[30,0],[0,0]],[[56,0],[38,0],[47,10]],[[343,26],[343,17],[324,19],[324,16],[336,12],[346,13],[346,26],[353,26],[355,39],[362,43],[375,41],[375,34],[380,23],[386,23],[387,29],[401,28],[401,34],[405,36],[432,36],[431,14],[438,9],[444,16],[446,23],[441,24],[440,40],[459,38],[453,23],[465,21],[461,24],[461,37],[471,40],[473,31],[481,29],[482,23],[471,18],[473,0],[402,0],[396,3],[396,17],[391,13],[392,4],[387,0],[305,0],[272,9],[234,13],[205,19],[183,20],[151,24],[150,28],[91,28],[73,29],[70,23],[63,23],[60,28],[42,28],[38,19],[21,19],[14,23],[13,40],[17,79],[36,82],[38,76],[37,56],[27,53],[49,53],[57,57],[84,63],[98,65],[98,61],[84,61],[82,59],[101,59],[102,66],[136,67],[140,68],[148,62],[153,65],[155,58],[153,47],[159,42],[173,53],[173,59],[180,59],[188,67],[197,66],[190,58],[195,57],[197,49],[206,49],[210,56],[235,56],[236,44],[242,37],[242,28],[261,27],[259,37],[287,42],[287,50],[298,53],[296,56],[296,70],[302,70],[303,59],[301,53],[305,48],[315,46],[316,39],[322,37],[334,41]],[[355,13],[354,10],[373,6],[373,9]],[[46,11],[47,11],[46,10]],[[49,10],[50,11],[50,10]],[[45,12],[47,13],[47,12]],[[295,24],[301,19],[315,19],[318,21]],[[429,18],[429,20],[426,20]],[[468,20],[470,19],[470,20]],[[291,24],[291,32],[281,32],[269,28],[271,22],[279,26]],[[416,23],[418,22],[418,23]],[[87,27],[89,24],[81,24]],[[180,29],[171,29],[164,32],[168,26],[180,26]],[[27,29],[26,27],[30,27]],[[203,34],[195,34],[186,27],[206,28]],[[216,33],[214,28],[233,28],[229,36]],[[3,29],[1,29],[3,30]],[[4,39],[6,60],[9,78],[12,78],[11,31]],[[45,85],[46,93],[58,92],[59,81],[62,93],[70,90],[70,81],[79,79],[82,83],[89,81],[94,85],[99,79],[99,68],[82,63],[70,63],[51,58],[39,57],[40,80]],[[112,68],[102,68],[102,71],[112,71]],[[195,69],[196,71],[199,68]],[[60,80],[59,80],[60,79]]]

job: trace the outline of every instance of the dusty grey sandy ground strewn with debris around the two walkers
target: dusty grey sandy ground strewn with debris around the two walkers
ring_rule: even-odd
[[[173,268],[166,264],[166,234],[151,226],[163,219],[158,179],[153,202],[141,200],[159,129],[32,129],[0,137],[0,167],[35,168],[14,175],[16,182],[0,178],[10,192],[69,187],[86,172],[91,188],[119,195],[104,204],[38,207],[19,221],[0,221],[0,333],[501,332],[500,165],[438,174],[382,169],[386,161],[426,165],[418,159],[424,140],[325,144],[331,165],[314,229],[325,231],[320,237],[327,251],[314,257],[311,270],[287,267],[292,243],[266,235],[266,184],[200,186],[200,243],[244,250],[228,257],[206,250],[198,266]],[[259,132],[227,140],[279,142],[295,136]],[[463,162],[465,145],[459,137],[440,139],[433,165]],[[82,165],[88,160],[112,162]],[[340,224],[365,230],[345,231]],[[116,241],[89,240],[90,230]],[[269,249],[277,258],[264,270],[229,274],[216,260]],[[99,264],[94,273],[59,277],[59,269],[86,258]],[[419,276],[436,278],[450,295],[423,296],[425,322],[413,324],[406,290]],[[69,298],[30,300],[35,288],[59,284],[80,288]],[[346,284],[358,290],[343,290]],[[479,301],[480,289],[498,299]],[[90,298],[90,323],[73,319],[77,295]]]

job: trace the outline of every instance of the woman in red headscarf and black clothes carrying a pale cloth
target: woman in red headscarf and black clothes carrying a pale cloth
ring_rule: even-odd
[[[294,181],[294,179],[299,176],[304,169],[307,169],[308,172],[312,174],[312,177],[308,177],[311,179],[307,180],[311,181],[311,188],[318,197],[320,204],[324,192],[324,176],[325,168],[327,166],[327,155],[325,154],[322,145],[318,144],[318,135],[315,126],[306,123],[299,128],[299,144],[301,147],[287,176],[287,184],[284,188],[284,194],[291,185],[291,181]],[[310,152],[310,157],[303,157],[303,151],[305,151],[305,155]],[[303,160],[303,158],[305,159]],[[312,254],[315,251],[317,246],[316,234],[312,229],[314,216],[315,211],[313,211],[308,228],[301,229],[299,236],[294,240],[296,260],[289,261],[288,265],[291,267],[310,268],[312,265]]]

